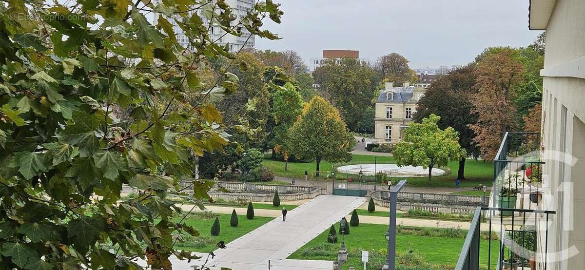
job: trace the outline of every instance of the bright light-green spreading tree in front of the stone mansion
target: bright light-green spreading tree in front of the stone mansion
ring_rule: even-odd
[[[446,166],[449,160],[459,160],[465,150],[459,146],[457,131],[453,127],[441,130],[440,116],[429,115],[422,123],[410,123],[404,130],[404,140],[396,144],[393,156],[399,166],[422,166],[429,169]]]

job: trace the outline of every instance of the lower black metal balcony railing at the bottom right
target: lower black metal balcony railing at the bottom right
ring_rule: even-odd
[[[511,219],[504,219],[504,212],[512,212]],[[548,210],[477,207],[455,270],[501,270],[505,265],[507,269],[529,268],[532,262],[546,270],[547,256],[538,254],[548,252],[553,214]],[[482,223],[486,216],[489,217]]]

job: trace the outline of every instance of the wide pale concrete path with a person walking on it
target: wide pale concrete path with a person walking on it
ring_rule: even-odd
[[[206,266],[211,269],[268,269],[270,261],[270,269],[331,269],[332,261],[286,258],[364,202],[363,197],[318,196],[289,211],[287,221],[274,219],[226,244],[227,248],[214,251],[215,258],[209,259]],[[256,210],[264,209],[254,209],[254,213]],[[193,269],[192,265],[202,265],[204,259],[191,263],[174,260],[173,269]]]

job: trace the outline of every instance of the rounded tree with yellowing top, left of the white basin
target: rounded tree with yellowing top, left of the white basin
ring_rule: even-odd
[[[349,160],[349,151],[356,141],[338,110],[320,96],[314,96],[292,124],[289,143],[294,155],[316,160],[316,171],[319,171],[321,160]]]

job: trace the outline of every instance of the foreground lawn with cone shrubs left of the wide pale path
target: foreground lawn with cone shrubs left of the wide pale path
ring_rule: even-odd
[[[238,215],[238,227],[229,226],[230,214],[214,214],[213,218],[189,218],[185,223],[189,226],[199,230],[199,237],[192,237],[183,235],[184,241],[177,241],[175,247],[178,250],[188,250],[197,252],[211,252],[216,250],[216,244],[219,241],[225,241],[229,247],[229,242],[243,236],[244,234],[253,231],[254,229],[268,223],[273,220],[273,217],[259,217],[256,216],[254,219],[246,219],[245,215]],[[221,231],[219,236],[211,235],[211,226],[214,223],[215,216],[219,217],[219,224]],[[174,220],[179,221],[179,219]]]

